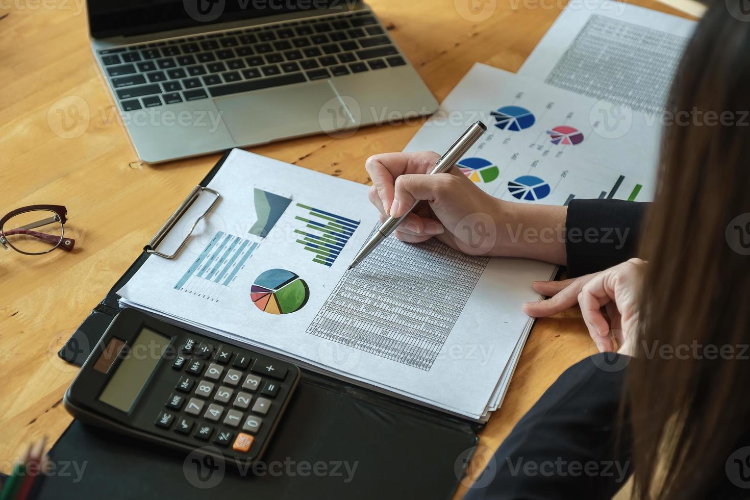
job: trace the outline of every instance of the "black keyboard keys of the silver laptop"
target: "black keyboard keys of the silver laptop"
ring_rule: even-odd
[[[123,111],[407,64],[368,10],[98,51]]]

